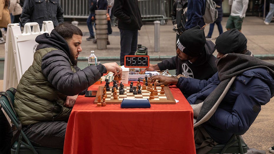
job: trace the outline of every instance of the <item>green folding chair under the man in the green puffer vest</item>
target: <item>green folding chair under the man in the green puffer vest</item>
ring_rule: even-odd
[[[21,123],[19,122],[16,112],[13,109],[14,95],[16,89],[9,88],[6,92],[0,92],[0,105],[3,107],[6,114],[11,119],[14,126],[20,131],[19,139],[14,142],[11,147],[11,154],[62,154],[63,149],[47,148],[47,147],[34,147],[25,133],[21,130]]]

